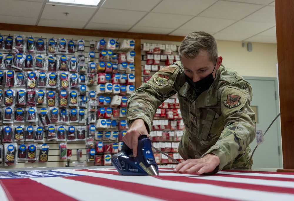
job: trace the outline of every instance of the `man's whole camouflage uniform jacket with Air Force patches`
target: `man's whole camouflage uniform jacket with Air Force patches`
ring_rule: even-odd
[[[129,97],[127,120],[143,119],[151,130],[156,110],[178,93],[185,131],[178,147],[183,159],[215,154],[215,171],[248,166],[249,144],[255,137],[255,113],[250,108],[252,88],[236,71],[221,66],[211,87],[198,97],[185,81],[181,62],[156,72]],[[250,168],[252,163],[250,164]]]

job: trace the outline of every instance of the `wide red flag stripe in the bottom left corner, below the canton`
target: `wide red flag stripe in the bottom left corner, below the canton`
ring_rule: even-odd
[[[29,178],[24,179],[1,179],[0,185],[10,201],[28,201],[28,200],[62,200],[75,201],[76,199],[69,197],[57,190],[46,185],[38,183]]]

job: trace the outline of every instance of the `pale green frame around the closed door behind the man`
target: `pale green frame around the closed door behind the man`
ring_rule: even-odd
[[[245,80],[260,80],[260,81],[274,81],[275,83],[275,97],[276,97],[276,108],[275,108],[275,115],[278,115],[280,113],[280,96],[279,96],[279,90],[278,90],[278,78],[276,77],[254,77],[254,76],[242,76]],[[253,89],[254,90],[254,89]],[[279,148],[279,164],[280,167],[277,168],[283,168],[283,152],[282,152],[282,135],[281,135],[281,118],[278,117],[275,122],[277,122],[277,133],[278,133],[278,146]],[[270,125],[271,122],[269,122],[267,127]],[[266,128],[267,128],[266,127]],[[265,132],[265,131],[263,131]],[[266,139],[266,137],[265,137]]]

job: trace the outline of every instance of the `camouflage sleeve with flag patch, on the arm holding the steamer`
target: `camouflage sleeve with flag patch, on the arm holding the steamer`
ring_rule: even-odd
[[[127,104],[127,122],[142,119],[151,131],[157,108],[177,92],[177,78],[181,72],[177,67],[165,67],[156,72],[147,83],[143,83],[129,97]]]

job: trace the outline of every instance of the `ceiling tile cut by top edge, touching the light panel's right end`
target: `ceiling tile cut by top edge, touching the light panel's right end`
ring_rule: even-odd
[[[113,8],[131,11],[150,11],[161,0],[106,0],[102,8]]]

